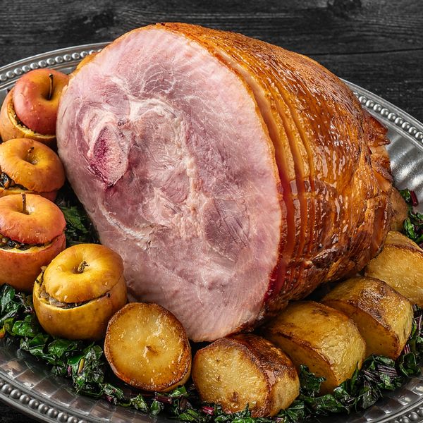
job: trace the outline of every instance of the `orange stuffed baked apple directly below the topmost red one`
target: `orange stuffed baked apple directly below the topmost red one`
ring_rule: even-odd
[[[46,145],[27,138],[0,145],[0,197],[25,192],[54,201],[63,183],[59,156]]]

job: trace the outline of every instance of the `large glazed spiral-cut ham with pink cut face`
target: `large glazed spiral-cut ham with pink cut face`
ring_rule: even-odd
[[[385,133],[311,59],[180,23],[128,32],[82,66],[57,124],[131,297],[169,309],[194,341],[252,328],[377,254]]]

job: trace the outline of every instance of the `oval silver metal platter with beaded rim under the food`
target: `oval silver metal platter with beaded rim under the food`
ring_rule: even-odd
[[[68,47],[16,61],[0,68],[0,101],[23,73],[37,68],[70,72],[80,60],[106,43]],[[423,124],[384,99],[351,84],[361,104],[388,127],[388,152],[396,186],[415,190],[423,198]],[[423,212],[423,210],[421,210]],[[152,419],[135,410],[116,407],[106,400],[78,396],[67,379],[52,376],[44,362],[17,350],[16,344],[0,341],[0,400],[43,422],[175,422],[166,417]],[[423,422],[423,377],[410,378],[405,386],[364,413],[333,415],[319,419],[348,423]]]

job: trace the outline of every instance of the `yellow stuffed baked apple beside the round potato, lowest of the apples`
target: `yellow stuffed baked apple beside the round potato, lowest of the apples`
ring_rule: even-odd
[[[52,336],[101,339],[111,316],[126,304],[121,256],[103,245],[74,245],[39,275],[32,300]]]

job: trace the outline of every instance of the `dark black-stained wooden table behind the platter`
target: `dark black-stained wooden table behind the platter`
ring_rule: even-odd
[[[0,66],[160,21],[243,32],[307,54],[423,121],[422,0],[1,1]],[[32,422],[0,405],[1,422]]]

